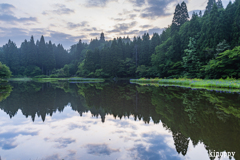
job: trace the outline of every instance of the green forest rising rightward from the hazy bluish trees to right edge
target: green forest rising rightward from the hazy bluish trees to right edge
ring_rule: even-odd
[[[185,2],[176,6],[172,24],[161,35],[133,41],[117,38],[89,50],[77,74],[88,77],[240,77],[240,2],[209,0],[204,14],[191,19]]]

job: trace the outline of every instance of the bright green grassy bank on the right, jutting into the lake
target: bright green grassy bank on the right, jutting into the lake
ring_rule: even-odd
[[[202,80],[202,79],[131,79],[131,83],[138,84],[154,84],[154,85],[164,85],[164,86],[181,86],[190,87],[194,89],[204,88],[204,89],[240,89],[240,80],[235,79],[219,79],[219,80]]]

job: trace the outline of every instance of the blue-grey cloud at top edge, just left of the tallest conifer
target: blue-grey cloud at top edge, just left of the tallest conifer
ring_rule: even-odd
[[[142,18],[159,18],[172,15],[172,13],[167,13],[167,6],[175,0],[148,0],[148,6],[142,10]]]

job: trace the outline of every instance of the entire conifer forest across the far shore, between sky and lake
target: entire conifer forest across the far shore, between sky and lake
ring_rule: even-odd
[[[208,0],[205,11],[191,17],[182,2],[172,24],[152,36],[106,41],[101,33],[70,50],[43,36],[36,42],[32,36],[20,48],[9,40],[0,48],[0,61],[14,77],[239,78],[240,0],[226,8],[221,0]]]

